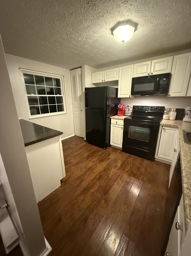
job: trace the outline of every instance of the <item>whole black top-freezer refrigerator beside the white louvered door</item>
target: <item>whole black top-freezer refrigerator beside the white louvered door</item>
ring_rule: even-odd
[[[86,141],[106,149],[110,146],[111,116],[117,115],[118,88],[85,88]]]

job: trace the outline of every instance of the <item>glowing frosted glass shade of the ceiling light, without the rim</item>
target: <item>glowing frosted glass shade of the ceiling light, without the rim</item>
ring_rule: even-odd
[[[134,35],[135,28],[130,25],[119,26],[113,31],[113,36],[120,43],[127,42]]]

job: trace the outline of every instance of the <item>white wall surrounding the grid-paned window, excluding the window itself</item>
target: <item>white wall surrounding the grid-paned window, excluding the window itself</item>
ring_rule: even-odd
[[[6,57],[6,62],[8,66],[9,77],[11,80],[11,87],[13,90],[13,95],[14,95],[18,116],[19,118],[22,118],[28,121],[29,121],[29,114],[27,110],[27,102],[25,98],[25,91],[24,91],[24,86],[21,79],[21,72],[19,68],[30,69],[30,70],[64,76],[67,113],[63,115],[54,115],[54,116],[30,119],[30,122],[37,123],[39,125],[43,125],[58,131],[62,131],[63,135],[61,136],[61,138],[72,136],[74,134],[74,124],[73,124],[70,70],[48,65],[38,61],[28,60],[28,59],[13,56],[10,54],[6,54],[5,57]]]

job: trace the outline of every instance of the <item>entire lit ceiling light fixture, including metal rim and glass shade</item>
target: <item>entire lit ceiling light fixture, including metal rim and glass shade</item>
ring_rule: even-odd
[[[130,40],[134,32],[137,30],[138,23],[127,19],[123,21],[118,21],[112,28],[111,34],[114,36],[115,40],[124,43]]]

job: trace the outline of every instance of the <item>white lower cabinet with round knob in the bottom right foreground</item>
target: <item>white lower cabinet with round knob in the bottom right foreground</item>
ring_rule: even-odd
[[[176,223],[179,223],[183,230],[176,229]],[[174,222],[172,224],[172,229],[170,231],[169,241],[167,244],[165,256],[178,256],[182,248],[182,244],[185,239],[185,224],[184,224],[184,207],[183,198],[180,200],[180,204],[177,208]]]

